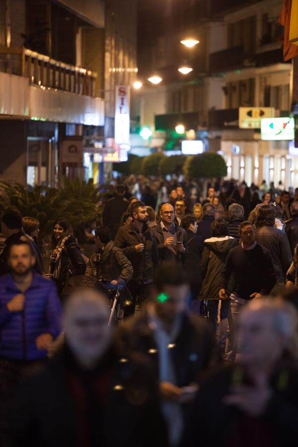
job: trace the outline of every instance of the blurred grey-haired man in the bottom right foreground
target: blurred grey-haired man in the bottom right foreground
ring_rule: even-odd
[[[241,312],[237,363],[207,378],[182,446],[290,447],[298,438],[298,318],[260,299]]]

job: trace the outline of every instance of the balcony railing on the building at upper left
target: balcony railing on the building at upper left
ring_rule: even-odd
[[[0,47],[0,71],[26,76],[31,84],[95,96],[97,74],[24,47]]]

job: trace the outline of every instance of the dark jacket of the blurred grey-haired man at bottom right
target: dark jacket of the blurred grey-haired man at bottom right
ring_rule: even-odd
[[[197,394],[181,447],[293,447],[298,439],[297,377],[295,367],[278,367],[263,414],[249,417],[239,407],[224,403],[232,385],[251,385],[242,370],[233,366],[213,373]]]

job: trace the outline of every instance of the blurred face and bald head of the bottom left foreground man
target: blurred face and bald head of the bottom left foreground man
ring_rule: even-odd
[[[81,361],[97,361],[111,340],[109,307],[99,292],[78,291],[69,298],[64,327],[67,343]]]

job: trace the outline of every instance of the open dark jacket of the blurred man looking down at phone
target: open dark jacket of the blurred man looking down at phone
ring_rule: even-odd
[[[128,352],[145,355],[154,367],[155,378],[159,377],[157,344],[147,307],[140,315],[126,320],[119,338]],[[183,314],[181,329],[171,348],[171,358],[177,386],[198,382],[200,374],[218,360],[212,330],[195,315]]]

